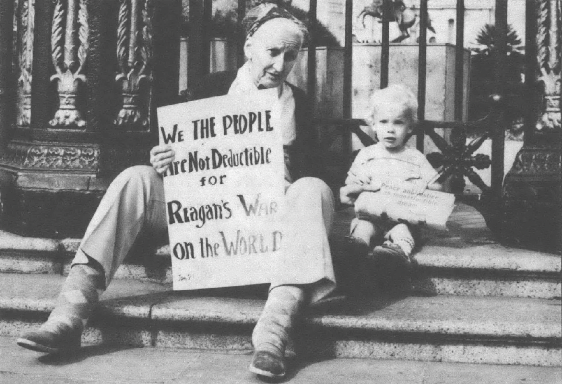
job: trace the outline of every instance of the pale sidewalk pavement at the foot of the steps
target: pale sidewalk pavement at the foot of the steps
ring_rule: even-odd
[[[247,371],[251,353],[87,345],[61,358],[20,348],[0,337],[2,384],[262,383]],[[285,383],[305,384],[562,384],[561,367],[403,360],[290,361]]]

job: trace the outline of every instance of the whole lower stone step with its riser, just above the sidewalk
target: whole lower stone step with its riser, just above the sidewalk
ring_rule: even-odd
[[[37,327],[64,278],[0,274],[0,333]],[[205,350],[251,350],[264,305],[233,292],[170,291],[116,280],[84,342]],[[562,365],[560,300],[481,296],[333,297],[311,307],[294,337],[298,354],[484,364]]]

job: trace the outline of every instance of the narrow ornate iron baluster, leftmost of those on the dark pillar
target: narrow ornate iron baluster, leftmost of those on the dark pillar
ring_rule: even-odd
[[[16,1],[17,4],[17,1]],[[16,9],[19,49],[17,79],[17,125],[28,127],[31,120],[31,68],[33,62],[33,29],[35,26],[35,0],[22,0]]]

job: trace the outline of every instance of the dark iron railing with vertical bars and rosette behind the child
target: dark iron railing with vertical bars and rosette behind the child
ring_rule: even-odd
[[[312,3],[312,2],[311,2]],[[376,2],[373,2],[373,5]],[[392,0],[384,0],[382,10],[391,8]],[[352,154],[350,143],[347,136],[353,132],[364,145],[374,143],[369,135],[361,130],[360,126],[367,125],[360,119],[353,119],[351,116],[351,72],[352,72],[352,40],[351,27],[353,15],[353,2],[346,1],[346,35],[345,35],[345,62],[343,67],[344,94],[343,94],[343,118],[325,119],[316,118],[318,126],[335,125],[343,136],[342,146],[347,150],[347,164],[351,162]],[[441,176],[439,181],[449,179],[450,191],[455,193],[459,199],[468,202],[479,209],[486,218],[488,226],[496,228],[498,217],[501,211],[501,188],[504,176],[504,113],[503,100],[501,97],[503,84],[505,83],[502,70],[502,63],[506,57],[506,36],[507,36],[507,2],[496,0],[496,42],[498,44],[495,57],[495,94],[490,97],[490,111],[488,115],[479,121],[463,121],[463,104],[468,100],[463,99],[463,79],[464,79],[464,0],[457,0],[456,4],[456,47],[455,47],[455,121],[432,121],[425,120],[425,90],[427,72],[427,24],[428,24],[428,0],[420,1],[420,26],[419,26],[419,54],[418,54],[418,128],[415,130],[416,147],[424,150],[424,136],[429,136],[434,144],[441,151],[427,154],[427,157],[436,168],[439,168]],[[310,10],[315,10],[311,7]],[[380,88],[388,85],[389,68],[389,17],[382,17],[382,43],[380,53]],[[309,45],[309,54],[314,50],[314,39]],[[309,59],[309,63],[311,60]],[[309,67],[308,82],[309,89],[314,89],[315,68]],[[312,83],[312,86],[310,85]],[[310,95],[311,100],[315,95]],[[466,131],[470,128],[477,128],[476,131],[484,133],[474,138],[470,143],[466,143]],[[451,141],[447,142],[435,129],[450,129]],[[492,158],[485,154],[474,154],[481,147],[484,140],[492,139]],[[339,157],[341,159],[341,157]],[[482,170],[492,167],[491,184],[487,185],[482,178],[474,171],[474,168]],[[463,195],[465,189],[464,177],[481,189],[479,196]]]

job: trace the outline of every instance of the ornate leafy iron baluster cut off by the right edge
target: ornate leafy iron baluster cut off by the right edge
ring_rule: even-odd
[[[538,4],[537,59],[544,86],[542,115],[537,131],[560,131],[560,1]]]

